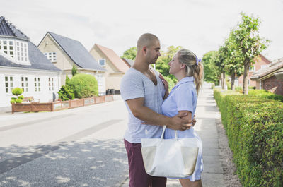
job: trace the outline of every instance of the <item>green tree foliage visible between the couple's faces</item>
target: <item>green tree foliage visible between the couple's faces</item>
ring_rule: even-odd
[[[171,45],[167,48],[166,52],[161,52],[161,56],[156,61],[156,70],[158,70],[163,76],[171,78],[174,83],[177,83],[178,80],[175,78],[175,76],[169,73],[170,67],[168,63],[173,59],[175,53],[180,49],[182,49],[182,47],[174,47]]]

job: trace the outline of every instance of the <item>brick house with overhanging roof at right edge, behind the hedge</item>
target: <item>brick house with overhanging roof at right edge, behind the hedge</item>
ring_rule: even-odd
[[[257,89],[283,95],[283,58],[255,71],[250,78],[255,81]]]

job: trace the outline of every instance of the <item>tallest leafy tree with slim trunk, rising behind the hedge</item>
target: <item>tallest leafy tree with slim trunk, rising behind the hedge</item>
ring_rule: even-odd
[[[260,19],[241,13],[242,20],[235,32],[236,47],[241,50],[243,58],[243,94],[248,95],[248,71],[255,61],[255,57],[267,48],[270,40],[259,36]]]

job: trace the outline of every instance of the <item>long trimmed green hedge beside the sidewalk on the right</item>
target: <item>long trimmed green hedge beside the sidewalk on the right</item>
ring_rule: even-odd
[[[282,186],[283,103],[214,90],[243,186]]]

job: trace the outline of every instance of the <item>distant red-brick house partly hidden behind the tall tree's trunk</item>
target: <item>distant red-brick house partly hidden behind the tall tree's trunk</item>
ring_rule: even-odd
[[[256,81],[251,80],[250,77],[253,75],[255,71],[259,71],[262,68],[265,68],[268,66],[268,64],[271,64],[271,61],[265,58],[262,54],[255,60],[255,64],[253,64],[253,67],[250,67],[250,71],[248,73],[248,85],[249,86],[255,86],[256,87]],[[238,85],[243,86],[243,76],[240,76],[238,78]]]

